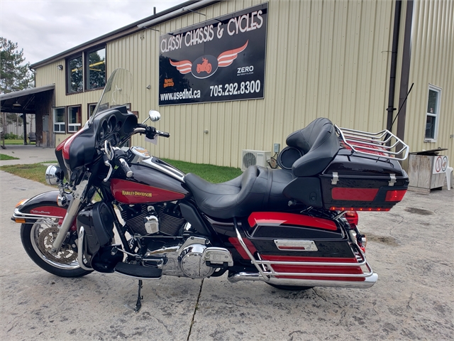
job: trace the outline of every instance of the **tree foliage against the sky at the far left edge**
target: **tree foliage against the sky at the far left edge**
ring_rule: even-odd
[[[0,37],[0,91],[9,92],[32,87],[33,75],[29,70],[30,63],[25,63],[23,49],[18,50],[17,43]]]

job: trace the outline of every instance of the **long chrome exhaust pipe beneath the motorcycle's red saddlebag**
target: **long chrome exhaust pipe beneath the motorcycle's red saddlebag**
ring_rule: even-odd
[[[314,274],[312,274],[314,275]],[[231,283],[239,281],[264,281],[260,274],[240,272],[227,277]],[[372,274],[366,277],[364,281],[323,281],[313,279],[297,279],[297,278],[270,278],[267,283],[272,283],[277,286],[321,286],[321,287],[337,287],[337,288],[357,288],[365,289],[373,286],[378,279],[377,274]]]

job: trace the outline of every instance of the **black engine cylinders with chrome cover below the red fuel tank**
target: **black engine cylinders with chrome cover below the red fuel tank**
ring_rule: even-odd
[[[119,205],[121,217],[134,234],[177,236],[186,220],[179,206],[172,202],[156,205]]]

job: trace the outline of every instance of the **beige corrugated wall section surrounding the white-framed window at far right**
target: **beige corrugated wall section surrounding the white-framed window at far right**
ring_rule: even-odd
[[[406,142],[411,151],[448,148],[454,165],[454,1],[414,2],[411,32],[410,84],[406,108]],[[441,87],[438,139],[425,143],[428,85]]]

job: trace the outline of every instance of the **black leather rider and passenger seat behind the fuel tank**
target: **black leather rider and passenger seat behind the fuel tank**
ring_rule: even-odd
[[[226,183],[209,183],[188,173],[185,182],[199,209],[210,217],[246,217],[263,210],[283,210],[289,199],[282,194],[293,180],[286,170],[250,166],[242,175]]]

